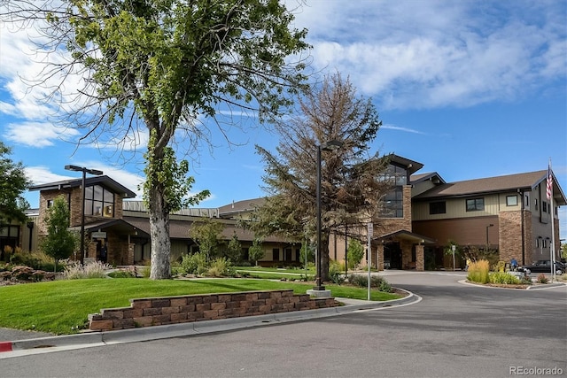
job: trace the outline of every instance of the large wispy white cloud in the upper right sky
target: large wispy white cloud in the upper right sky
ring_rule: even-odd
[[[564,81],[565,12],[553,2],[314,0],[297,26],[309,29],[315,70],[350,75],[380,109],[462,107]]]

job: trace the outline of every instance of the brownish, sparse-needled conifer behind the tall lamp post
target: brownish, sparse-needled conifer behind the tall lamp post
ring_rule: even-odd
[[[339,225],[360,225],[377,217],[380,198],[390,188],[381,179],[388,159],[369,154],[369,143],[382,124],[374,105],[357,96],[339,73],[312,86],[298,105],[297,114],[276,124],[281,135],[276,153],[257,146],[266,163],[268,197],[251,224],[260,234],[314,240],[318,149],[341,142],[338,150],[321,150],[321,274],[326,281],[330,233]]]

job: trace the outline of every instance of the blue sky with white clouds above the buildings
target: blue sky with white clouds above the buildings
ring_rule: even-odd
[[[551,161],[567,194],[567,2],[285,4],[294,10],[293,26],[308,29],[309,69],[348,76],[376,106],[383,127],[374,150],[416,160],[423,164],[417,174],[437,172],[447,182],[545,170]],[[115,146],[77,149],[80,132],[46,117],[51,109],[38,100],[42,93],[22,80],[41,72],[30,43],[37,38],[33,28],[0,24],[0,140],[35,184],[79,178],[64,169],[72,164],[102,170],[140,196],[140,154],[125,161]],[[219,133],[211,137],[214,148],[203,146],[190,166],[194,191],[211,191],[198,207],[264,196],[254,145],[273,149],[277,135],[250,127],[230,131],[234,144]],[[38,205],[38,192],[26,197]]]

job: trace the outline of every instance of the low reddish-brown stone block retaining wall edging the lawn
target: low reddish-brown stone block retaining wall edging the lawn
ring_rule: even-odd
[[[100,313],[89,315],[89,329],[151,327],[337,305],[334,298],[295,295],[291,289],[130,299],[129,307],[103,309]]]

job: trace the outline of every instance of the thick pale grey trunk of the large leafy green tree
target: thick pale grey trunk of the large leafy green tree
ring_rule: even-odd
[[[150,189],[151,280],[171,278],[169,213],[165,210],[162,192],[161,185]]]

